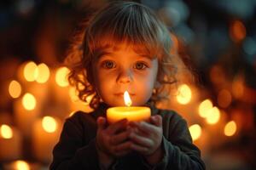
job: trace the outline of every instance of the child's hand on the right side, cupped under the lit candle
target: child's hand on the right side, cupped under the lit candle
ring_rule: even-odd
[[[129,135],[132,141],[131,149],[140,152],[152,164],[156,163],[154,161],[160,161],[163,156],[163,150],[161,150],[162,117],[151,116],[149,122],[130,122],[129,128],[131,128]]]

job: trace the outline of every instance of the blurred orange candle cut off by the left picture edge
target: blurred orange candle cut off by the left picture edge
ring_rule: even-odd
[[[12,161],[21,156],[21,136],[15,127],[0,125],[0,161]]]

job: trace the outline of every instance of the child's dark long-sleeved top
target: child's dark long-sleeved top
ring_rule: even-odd
[[[96,152],[96,119],[106,116],[107,105],[99,105],[90,114],[78,111],[67,118],[61,139],[53,150],[50,169],[100,169]],[[205,169],[200,150],[192,144],[185,120],[174,111],[159,110],[151,106],[152,115],[163,119],[162,146],[165,156],[156,166],[150,167],[143,156],[132,152],[119,158],[110,169]]]

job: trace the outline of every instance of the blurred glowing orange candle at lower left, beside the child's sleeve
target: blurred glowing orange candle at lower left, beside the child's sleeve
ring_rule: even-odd
[[[60,136],[59,120],[44,116],[33,124],[32,148],[38,161],[49,163],[52,160],[52,150]]]

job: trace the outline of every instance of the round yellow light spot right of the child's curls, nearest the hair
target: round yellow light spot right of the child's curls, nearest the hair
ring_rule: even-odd
[[[192,97],[191,89],[187,84],[183,84],[177,88],[177,102],[186,105]]]

